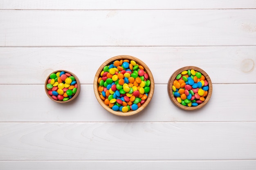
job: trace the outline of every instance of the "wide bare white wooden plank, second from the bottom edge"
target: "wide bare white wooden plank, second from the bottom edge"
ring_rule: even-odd
[[[256,159],[256,122],[0,123],[0,160]]]

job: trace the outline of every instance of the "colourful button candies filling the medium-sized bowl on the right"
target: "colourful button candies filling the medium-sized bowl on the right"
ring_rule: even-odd
[[[198,106],[204,102],[209,86],[202,73],[186,70],[178,74],[173,81],[173,96],[183,106]]]

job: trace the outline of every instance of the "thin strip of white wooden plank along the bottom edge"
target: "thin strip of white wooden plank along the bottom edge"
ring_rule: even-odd
[[[254,170],[255,160],[239,161],[0,161],[4,170]]]

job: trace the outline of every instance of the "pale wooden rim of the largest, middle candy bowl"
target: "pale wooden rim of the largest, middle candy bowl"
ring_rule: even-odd
[[[115,60],[125,60],[125,59],[134,60],[137,64],[144,67],[144,71],[146,71],[146,73],[148,74],[148,77],[149,77],[148,79],[150,80],[150,91],[148,93],[148,97],[147,97],[146,101],[143,104],[141,104],[141,106],[137,110],[130,110],[126,113],[123,113],[121,111],[112,110],[112,108],[110,108],[108,105],[106,105],[104,103],[104,101],[100,98],[100,94],[99,94],[99,91],[98,91],[98,88],[99,88],[98,79],[100,77],[101,71],[103,71],[104,66],[108,66],[108,65],[112,64]],[[150,100],[153,97],[155,84],[154,84],[153,75],[152,75],[150,69],[148,68],[148,66],[144,62],[142,62],[141,60],[137,59],[136,57],[132,57],[130,55],[118,55],[118,56],[115,56],[115,57],[112,57],[112,58],[108,59],[106,62],[104,62],[99,67],[99,69],[98,69],[98,71],[95,75],[95,78],[94,78],[93,87],[94,87],[94,94],[95,94],[99,104],[101,104],[101,106],[104,109],[108,110],[110,113],[112,113],[114,115],[130,116],[130,115],[135,115],[135,114],[139,113],[141,110],[143,110],[144,108],[146,108],[146,106],[149,104]]]

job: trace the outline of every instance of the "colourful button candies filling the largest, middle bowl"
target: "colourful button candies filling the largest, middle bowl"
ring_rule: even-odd
[[[104,66],[98,85],[104,103],[121,112],[137,110],[150,91],[148,74],[134,60],[115,60]]]

